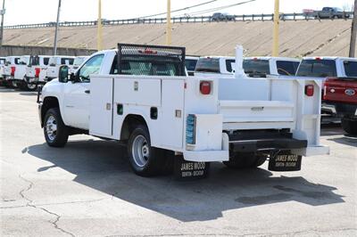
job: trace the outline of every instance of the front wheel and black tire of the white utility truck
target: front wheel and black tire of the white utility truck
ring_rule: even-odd
[[[54,121],[51,122],[53,119]],[[50,131],[49,129],[54,129],[54,125],[56,126],[56,129]],[[58,108],[46,111],[44,119],[44,135],[46,143],[49,146],[63,147],[68,141],[68,136],[70,135],[69,130],[70,129],[63,123],[61,112]]]

